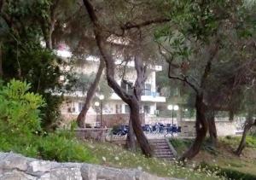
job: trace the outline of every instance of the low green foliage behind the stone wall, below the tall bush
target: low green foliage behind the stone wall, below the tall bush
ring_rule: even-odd
[[[0,134],[0,150],[13,151],[43,160],[96,163],[90,149],[76,140],[70,132],[55,132],[44,136],[15,136]]]

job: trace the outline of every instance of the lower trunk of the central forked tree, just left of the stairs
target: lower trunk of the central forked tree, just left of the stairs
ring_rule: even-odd
[[[137,137],[137,142],[140,146],[140,148],[143,151],[143,154],[145,154],[147,157],[152,156],[152,149],[149,145],[148,139],[145,136],[143,132],[143,127],[141,123],[141,117],[140,117],[140,109],[139,109],[139,102],[134,98],[131,100],[131,104],[129,104],[129,107],[131,109],[131,123],[134,130],[134,133]]]

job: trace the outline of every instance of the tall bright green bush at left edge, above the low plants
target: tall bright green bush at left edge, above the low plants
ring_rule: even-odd
[[[15,79],[0,89],[1,132],[28,135],[40,130],[40,110],[44,106],[42,96],[28,92],[31,84]]]

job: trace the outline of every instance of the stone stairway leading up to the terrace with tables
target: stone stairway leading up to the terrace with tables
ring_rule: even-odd
[[[174,160],[175,153],[172,152],[166,139],[150,139],[150,145],[154,148],[154,157],[160,160]]]

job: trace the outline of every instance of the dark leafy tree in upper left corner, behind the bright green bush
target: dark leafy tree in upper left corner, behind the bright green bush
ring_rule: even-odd
[[[27,80],[33,92],[44,96],[47,106],[42,107],[44,115],[41,121],[44,129],[56,127],[61,96],[52,92],[61,92],[62,72],[60,66],[65,62],[55,56],[52,49],[42,46],[44,37],[40,23],[48,17],[49,1],[1,1],[2,65],[3,80],[11,78]],[[2,31],[4,30],[4,31]]]

